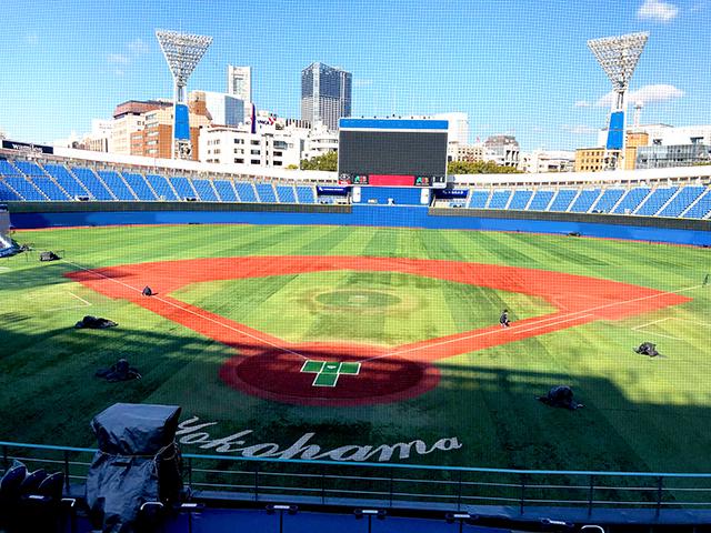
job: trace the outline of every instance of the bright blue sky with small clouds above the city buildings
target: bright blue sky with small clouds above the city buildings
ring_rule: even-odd
[[[591,38],[649,31],[642,122],[711,123],[711,0],[2,0],[0,129],[49,142],[128,99],[171,97],[157,28],[213,37],[189,90],[253,69],[260,109],[300,113],[313,61],[353,73],[353,114],[463,111],[471,140],[594,144],[610,84]],[[601,101],[601,99],[603,101]]]

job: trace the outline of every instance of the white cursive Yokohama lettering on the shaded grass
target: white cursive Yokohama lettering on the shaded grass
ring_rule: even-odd
[[[204,431],[214,428],[218,422],[200,422],[198,416],[192,416],[178,425],[176,436],[181,444],[198,446],[202,450],[212,450],[218,453],[234,453],[243,457],[259,459],[301,459],[307,461],[331,460],[331,461],[378,461],[385,462],[392,459],[409,459],[413,455],[427,455],[435,451],[450,452],[459,450],[462,444],[455,436],[440,439],[432,445],[424,441],[414,440],[411,442],[398,442],[395,444],[358,445],[349,444],[323,450],[320,445],[312,443],[316,433],[304,433],[289,447],[281,449],[273,442],[259,444],[247,444],[244,440],[253,433],[252,430],[243,430],[220,439],[213,438]]]

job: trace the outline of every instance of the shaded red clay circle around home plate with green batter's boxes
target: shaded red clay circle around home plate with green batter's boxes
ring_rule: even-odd
[[[357,350],[354,350],[358,348]],[[428,363],[372,355],[372,346],[264,349],[233,358],[220,370],[228,385],[259,398],[298,405],[364,405],[418,396],[437,386],[438,369]]]

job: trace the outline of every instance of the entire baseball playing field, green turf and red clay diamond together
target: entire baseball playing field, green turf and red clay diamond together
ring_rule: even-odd
[[[93,446],[107,406],[169,403],[192,453],[711,470],[707,249],[288,225],[13,237],[62,260],[0,260],[2,440]],[[84,315],[119,325],[76,330]],[[94,375],[119,359],[141,379]],[[537,401],[561,384],[584,408]]]

